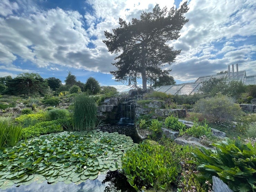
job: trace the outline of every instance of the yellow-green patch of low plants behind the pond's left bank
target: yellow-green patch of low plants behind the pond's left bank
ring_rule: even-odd
[[[22,127],[33,126],[38,122],[45,121],[46,113],[45,112],[38,112],[32,114],[21,115],[15,118],[15,121],[18,122]]]

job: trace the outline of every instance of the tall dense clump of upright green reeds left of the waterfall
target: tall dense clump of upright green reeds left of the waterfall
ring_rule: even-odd
[[[95,129],[97,106],[93,97],[90,97],[87,94],[76,95],[73,119],[74,130],[83,131]]]

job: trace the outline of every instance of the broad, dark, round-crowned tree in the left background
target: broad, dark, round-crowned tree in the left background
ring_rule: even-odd
[[[48,89],[47,80],[44,80],[38,73],[21,73],[6,83],[8,94],[11,95],[39,95],[44,94]]]

